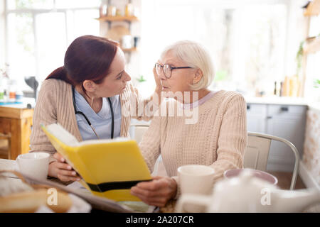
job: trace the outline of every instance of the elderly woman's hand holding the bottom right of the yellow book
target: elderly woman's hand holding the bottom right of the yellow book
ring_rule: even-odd
[[[170,177],[153,177],[151,182],[140,182],[131,188],[130,193],[151,206],[165,206],[176,196],[176,181]]]

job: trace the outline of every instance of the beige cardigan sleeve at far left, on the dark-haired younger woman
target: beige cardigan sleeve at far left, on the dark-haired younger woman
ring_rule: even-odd
[[[49,80],[43,82],[33,114],[33,127],[30,138],[29,152],[50,153],[50,162],[55,160],[53,154],[55,148],[41,129],[41,123],[45,126],[57,123],[57,94],[55,84]]]

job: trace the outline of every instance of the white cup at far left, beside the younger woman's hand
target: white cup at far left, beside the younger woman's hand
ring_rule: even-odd
[[[49,157],[48,153],[43,152],[27,153],[18,155],[16,162],[22,174],[44,180],[48,176]]]

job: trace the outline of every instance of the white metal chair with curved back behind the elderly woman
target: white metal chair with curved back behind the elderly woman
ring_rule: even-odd
[[[244,167],[262,170],[265,171],[267,169],[267,160],[270,152],[270,145],[272,140],[277,140],[279,142],[285,143],[291,148],[294,153],[295,162],[294,162],[294,170],[292,172],[292,181],[290,185],[290,190],[293,190],[298,176],[299,170],[299,152],[297,148],[288,140],[284,138],[279,138],[274,135],[268,135],[264,133],[253,133],[248,132],[248,140],[247,140],[247,148],[245,148],[245,157],[244,157]]]

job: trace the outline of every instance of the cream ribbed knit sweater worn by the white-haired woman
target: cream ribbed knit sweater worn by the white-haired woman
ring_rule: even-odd
[[[179,108],[177,101],[171,101]],[[166,105],[169,105],[168,102]],[[160,154],[167,175],[176,181],[177,168],[181,165],[213,167],[215,182],[223,177],[225,170],[243,167],[247,118],[245,99],[240,94],[216,92],[211,99],[198,106],[197,123],[186,124],[186,118],[154,116],[152,119],[139,143],[151,172]],[[177,196],[179,189],[178,185]]]

